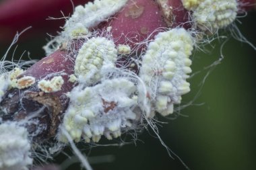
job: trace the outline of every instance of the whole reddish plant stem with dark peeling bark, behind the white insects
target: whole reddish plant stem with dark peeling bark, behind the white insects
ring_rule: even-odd
[[[176,26],[189,28],[189,25],[185,24],[189,21],[189,17],[187,11],[182,8],[181,0],[169,0],[168,5],[172,7],[172,10],[169,11],[170,13],[167,13],[170,15],[166,15],[162,6],[156,3],[156,1],[129,1],[124,9],[117,13],[113,19],[101,24],[99,29],[106,30],[107,27],[111,27],[110,32],[117,45],[128,44],[136,48],[139,42],[154,38],[154,35],[161,31],[158,28],[165,29],[166,27],[173,28]],[[82,42],[75,41],[73,43],[76,46],[76,51],[82,45]],[[42,58],[42,60],[30,67],[22,76],[30,75],[35,77],[36,81],[44,78],[51,79],[56,74],[61,75],[61,73],[65,73],[65,75],[61,75],[65,81],[62,90],[55,93],[42,93],[35,84],[34,88],[23,90],[11,89],[7,91],[5,97],[3,97],[3,101],[0,103],[0,108],[4,108],[9,113],[8,116],[2,116],[3,120],[21,120],[32,112],[28,108],[33,108],[33,105],[36,105],[34,108],[38,109],[44,105],[46,109],[42,111],[38,119],[41,124],[44,124],[46,129],[38,134],[34,140],[47,139],[54,136],[63,117],[62,114],[68,105],[69,99],[65,93],[71,91],[73,88],[73,83],[68,81],[68,77],[73,74],[76,54],[77,52],[73,53],[62,48],[50,56]],[[20,100],[20,93],[25,96],[22,100]],[[9,94],[13,97],[9,97]],[[13,105],[12,103],[15,104]],[[22,108],[21,105],[23,106],[22,110],[20,110]],[[32,133],[36,128],[34,126],[28,126],[28,130]]]

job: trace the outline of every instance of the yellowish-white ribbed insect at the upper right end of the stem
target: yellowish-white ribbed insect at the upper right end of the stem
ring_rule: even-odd
[[[193,10],[193,19],[201,30],[215,32],[234,22],[237,11],[236,0],[205,0]]]

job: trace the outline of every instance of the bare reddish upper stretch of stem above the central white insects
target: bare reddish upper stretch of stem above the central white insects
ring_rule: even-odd
[[[128,44],[134,48],[137,43],[154,38],[158,32],[162,31],[159,28],[177,26],[189,28],[188,24],[184,24],[189,20],[189,16],[187,10],[183,9],[181,0],[169,0],[168,2],[168,5],[172,7],[170,11],[172,17],[168,18],[170,26],[166,23],[156,1],[140,0],[129,1],[128,5],[120,13],[117,13],[114,19],[100,29],[111,26],[111,33],[116,44]]]

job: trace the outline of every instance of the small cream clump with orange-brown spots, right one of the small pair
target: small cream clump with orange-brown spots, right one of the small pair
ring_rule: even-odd
[[[63,83],[63,78],[61,76],[56,76],[53,77],[51,80],[40,80],[38,82],[38,88],[45,93],[56,92],[61,90]]]

